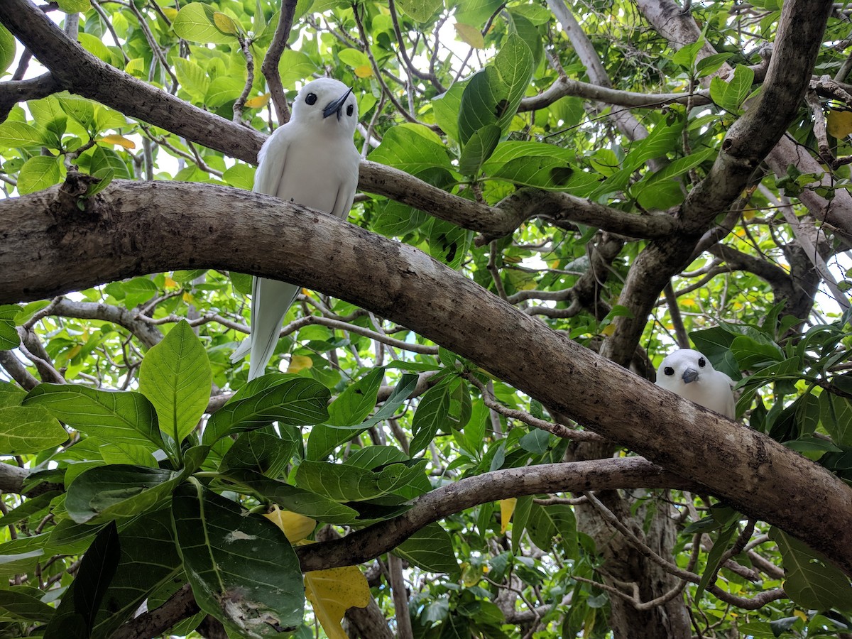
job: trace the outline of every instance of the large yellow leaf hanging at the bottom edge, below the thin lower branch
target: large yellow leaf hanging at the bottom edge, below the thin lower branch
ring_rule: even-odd
[[[357,566],[314,570],[305,574],[305,596],[329,639],[348,639],[340,620],[351,607],[370,603],[370,585]]]

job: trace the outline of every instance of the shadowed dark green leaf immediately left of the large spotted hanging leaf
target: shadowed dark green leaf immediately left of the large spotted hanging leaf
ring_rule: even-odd
[[[121,556],[95,616],[92,639],[107,639],[147,597],[181,570],[169,509],[142,515],[118,533]]]

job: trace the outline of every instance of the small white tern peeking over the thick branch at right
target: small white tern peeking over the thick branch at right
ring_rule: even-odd
[[[657,386],[679,394],[711,411],[734,419],[734,380],[713,368],[704,355],[681,348],[665,356],[657,371]]]

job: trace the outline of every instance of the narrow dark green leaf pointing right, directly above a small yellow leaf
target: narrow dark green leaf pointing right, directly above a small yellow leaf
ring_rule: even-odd
[[[229,469],[216,478],[216,484],[331,524],[349,524],[358,518],[358,511],[345,504],[284,481],[269,479],[250,469]]]

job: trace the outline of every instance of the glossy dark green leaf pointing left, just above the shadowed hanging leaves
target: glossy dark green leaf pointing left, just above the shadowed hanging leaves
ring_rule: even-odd
[[[141,515],[164,504],[184,475],[146,466],[97,466],[68,486],[65,507],[78,524]]]

